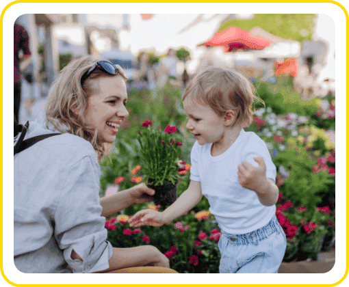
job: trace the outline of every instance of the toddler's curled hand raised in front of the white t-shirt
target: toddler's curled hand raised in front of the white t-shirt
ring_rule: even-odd
[[[254,167],[247,161],[243,161],[237,167],[239,170],[237,172],[238,180],[242,187],[263,194],[266,182],[268,182],[266,178],[266,164],[261,156],[254,157],[253,159],[259,163],[258,167]]]

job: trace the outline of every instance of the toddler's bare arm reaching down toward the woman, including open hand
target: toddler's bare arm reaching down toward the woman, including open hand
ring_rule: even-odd
[[[201,198],[203,198],[201,182],[191,180],[188,189],[173,204],[168,206],[166,210],[163,212],[153,209],[140,210],[129,219],[129,226],[162,226],[164,223],[170,222],[187,213],[201,201]]]

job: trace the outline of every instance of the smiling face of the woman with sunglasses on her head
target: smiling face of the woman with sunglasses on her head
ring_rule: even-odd
[[[118,128],[129,115],[125,104],[127,90],[120,75],[99,77],[94,81],[94,92],[88,97],[86,120],[97,128],[97,139],[103,143],[113,143]]]

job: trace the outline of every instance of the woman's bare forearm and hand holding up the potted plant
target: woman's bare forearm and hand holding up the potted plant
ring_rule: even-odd
[[[153,200],[151,196],[154,194],[155,191],[153,189],[141,183],[114,195],[101,197],[100,203],[103,208],[101,215],[103,217],[109,217],[133,204],[149,202]]]

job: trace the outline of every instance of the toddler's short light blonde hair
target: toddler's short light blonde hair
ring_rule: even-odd
[[[209,66],[199,72],[185,89],[183,100],[209,106],[222,117],[231,109],[235,112],[234,124],[250,125],[253,102],[260,98],[255,96],[255,87],[239,72]]]

